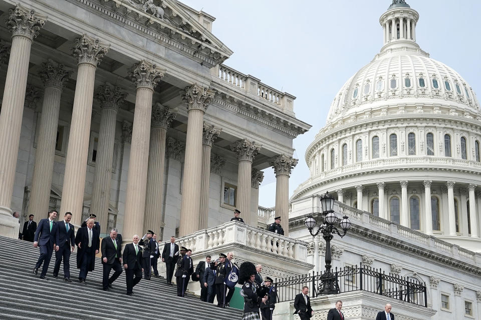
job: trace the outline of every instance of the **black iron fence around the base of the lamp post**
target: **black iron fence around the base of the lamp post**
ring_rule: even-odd
[[[322,292],[322,281],[325,281],[326,277],[332,278],[337,293],[363,290],[427,306],[425,282],[390,272],[385,273],[381,269],[374,269],[361,263],[359,266],[344,269],[336,267],[331,273],[316,272],[284,279],[276,278],[278,301],[294,300],[304,286],[309,287],[310,295],[313,297],[323,295],[325,293]]]

